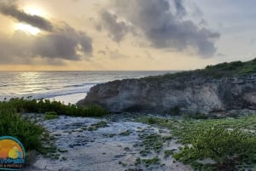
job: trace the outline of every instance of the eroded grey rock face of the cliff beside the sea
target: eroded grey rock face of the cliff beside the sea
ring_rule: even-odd
[[[256,110],[256,74],[209,79],[125,79],[90,88],[79,104],[98,104],[110,111],[167,113],[177,106],[188,113]],[[176,107],[176,108],[177,108]]]

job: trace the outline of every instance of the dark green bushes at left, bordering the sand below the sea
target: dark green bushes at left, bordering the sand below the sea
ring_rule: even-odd
[[[49,100],[32,100],[31,97],[12,98],[9,101],[0,101],[0,136],[14,136],[22,142],[26,151],[36,150],[45,157],[59,158],[58,150],[54,145],[54,137],[40,126],[36,120],[22,116],[21,113],[44,113],[44,119],[54,119],[58,115],[75,117],[102,117],[108,111],[97,105],[80,107],[77,105],[63,105],[61,102]],[[91,128],[108,126],[101,122],[91,125]]]

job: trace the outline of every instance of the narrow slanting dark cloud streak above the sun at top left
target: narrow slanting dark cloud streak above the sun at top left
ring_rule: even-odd
[[[0,12],[44,31],[53,30],[53,26],[48,20],[38,15],[26,14],[23,10],[18,9],[15,3],[0,3]]]

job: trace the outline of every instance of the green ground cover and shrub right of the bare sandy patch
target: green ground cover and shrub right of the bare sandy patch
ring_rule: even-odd
[[[195,170],[244,170],[256,168],[256,115],[238,118],[195,120],[140,117],[138,122],[169,128],[184,145],[181,151],[165,151]],[[215,163],[201,162],[211,158]]]

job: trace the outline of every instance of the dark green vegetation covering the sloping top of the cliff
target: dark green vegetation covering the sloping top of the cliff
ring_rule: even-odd
[[[159,80],[159,79],[177,79],[184,81],[185,78],[196,78],[196,77],[233,77],[233,76],[245,76],[248,74],[256,73],[256,58],[247,62],[234,61],[224,62],[215,66],[207,66],[202,70],[195,71],[181,71],[173,74],[166,74],[163,76],[150,76],[142,79],[146,80]]]

